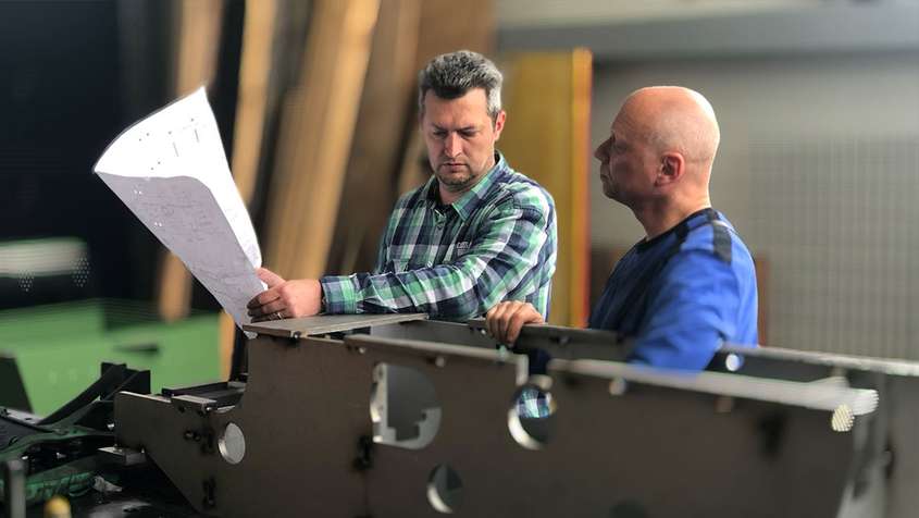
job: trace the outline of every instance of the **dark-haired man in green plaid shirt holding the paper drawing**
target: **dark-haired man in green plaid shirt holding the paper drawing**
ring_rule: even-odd
[[[249,303],[253,321],[316,314],[426,312],[467,320],[505,298],[548,312],[556,263],[551,196],[513,171],[495,143],[501,73],[461,50],[419,74],[421,132],[433,175],[396,203],[373,272],[285,281]]]

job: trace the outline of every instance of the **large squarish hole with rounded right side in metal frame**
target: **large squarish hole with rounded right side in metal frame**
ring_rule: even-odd
[[[427,375],[393,363],[373,368],[370,418],[374,443],[421,449],[434,441],[440,417],[440,403]]]

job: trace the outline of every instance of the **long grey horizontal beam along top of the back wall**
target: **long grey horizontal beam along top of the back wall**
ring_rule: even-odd
[[[598,62],[915,51],[917,26],[919,5],[834,2],[743,14],[506,26],[498,30],[498,48],[587,47]]]

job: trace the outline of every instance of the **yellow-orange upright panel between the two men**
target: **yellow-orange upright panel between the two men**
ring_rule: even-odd
[[[558,262],[549,322],[557,325],[586,325],[589,311],[591,75],[591,53],[582,49],[516,54],[506,65],[508,122],[500,149],[556,202]]]

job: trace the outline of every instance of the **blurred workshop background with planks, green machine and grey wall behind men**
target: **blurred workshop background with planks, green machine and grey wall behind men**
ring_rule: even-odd
[[[36,412],[98,377],[225,377],[233,324],[92,174],[207,85],[264,262],[372,267],[429,172],[415,77],[469,48],[506,74],[499,148],[552,193],[551,320],[583,325],[643,233],[594,147],[633,89],[713,104],[712,201],[757,260],[765,345],[919,359],[919,1],[0,1],[0,367]],[[0,392],[3,383],[0,379]]]

